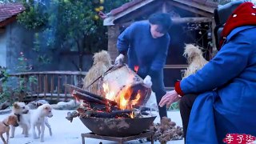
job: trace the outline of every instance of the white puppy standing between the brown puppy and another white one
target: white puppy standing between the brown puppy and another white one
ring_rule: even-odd
[[[14,102],[12,113],[18,118],[18,125],[22,127],[22,134],[28,137],[30,130],[30,108],[24,102]],[[14,138],[14,126],[10,126],[10,132],[10,138]]]

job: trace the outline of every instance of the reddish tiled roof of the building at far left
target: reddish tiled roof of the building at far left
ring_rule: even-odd
[[[8,18],[21,13],[25,7],[21,3],[0,4],[0,22],[4,22]]]

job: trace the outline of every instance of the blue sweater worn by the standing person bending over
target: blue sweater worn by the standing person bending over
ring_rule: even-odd
[[[134,22],[119,35],[117,47],[120,53],[127,53],[132,70],[139,66],[138,74],[153,76],[166,64],[169,43],[169,34],[153,38],[149,22]]]

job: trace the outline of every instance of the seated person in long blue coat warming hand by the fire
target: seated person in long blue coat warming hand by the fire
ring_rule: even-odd
[[[221,49],[175,84],[159,103],[180,99],[186,143],[222,143],[226,134],[256,136],[256,6],[243,2],[222,30]],[[230,138],[230,141],[237,140]],[[248,137],[243,140],[248,140]]]

